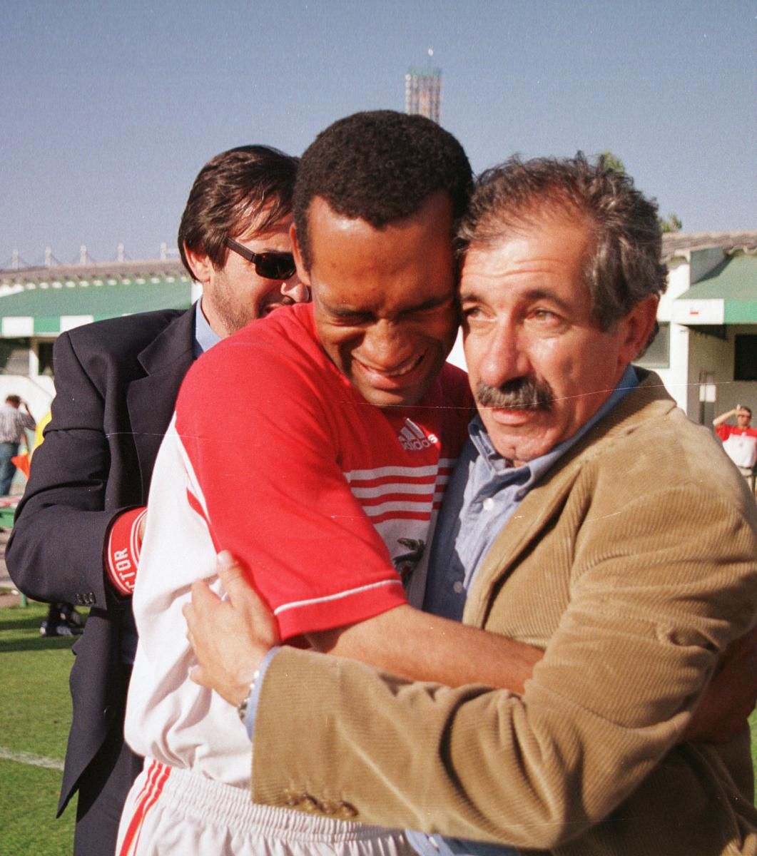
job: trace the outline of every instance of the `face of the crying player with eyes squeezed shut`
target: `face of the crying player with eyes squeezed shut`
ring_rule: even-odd
[[[420,401],[455,341],[450,200],[436,193],[411,217],[374,229],[316,197],[308,211],[319,339],[331,361],[376,407]]]

